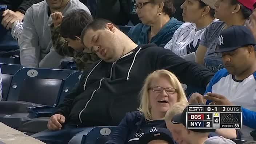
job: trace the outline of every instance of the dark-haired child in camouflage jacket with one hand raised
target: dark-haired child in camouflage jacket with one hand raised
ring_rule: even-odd
[[[62,56],[74,57],[77,69],[85,71],[99,57],[89,51],[80,39],[83,28],[92,21],[91,15],[83,9],[77,9],[63,17],[61,12],[51,14],[51,38],[55,51]]]

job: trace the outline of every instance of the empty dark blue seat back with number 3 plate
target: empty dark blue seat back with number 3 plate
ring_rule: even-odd
[[[55,105],[71,70],[23,68],[15,73],[6,101]]]

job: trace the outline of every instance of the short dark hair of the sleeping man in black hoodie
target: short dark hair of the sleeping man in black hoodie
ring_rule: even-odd
[[[106,19],[95,19],[93,20],[91,23],[87,24],[83,31],[81,32],[81,40],[83,41],[84,39],[84,35],[85,33],[88,31],[88,29],[92,29],[93,31],[97,31],[99,29],[105,29],[106,28],[106,25],[108,23],[111,23],[113,24],[117,29],[119,29],[114,23],[112,23],[111,21],[109,20],[106,20]]]

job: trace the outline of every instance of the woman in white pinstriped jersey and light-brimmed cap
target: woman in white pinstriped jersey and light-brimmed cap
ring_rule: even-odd
[[[214,17],[217,0],[185,0],[181,5],[185,22],[164,46],[188,61],[195,61],[196,49],[206,27],[217,21]]]

